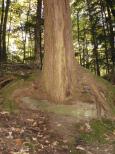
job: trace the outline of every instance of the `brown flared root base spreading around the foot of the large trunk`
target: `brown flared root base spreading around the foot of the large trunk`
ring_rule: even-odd
[[[92,106],[93,109],[95,108],[98,118],[110,118],[112,116],[112,108],[108,103],[109,89],[107,89],[106,85],[101,83],[99,79],[88,70],[79,65],[76,66],[76,70],[78,70],[75,74],[77,84],[75,85],[74,91],[71,97],[65,98],[65,100],[60,104],[77,106],[79,106],[78,104],[84,104],[84,106],[89,106],[89,108]],[[13,98],[18,100],[18,102],[20,101],[20,98],[25,96],[39,100],[48,100],[51,103],[59,104],[59,102],[56,102],[55,100],[53,101],[52,98],[47,95],[42,73],[40,74],[38,80],[32,83],[31,87],[17,90],[17,92],[13,94]]]

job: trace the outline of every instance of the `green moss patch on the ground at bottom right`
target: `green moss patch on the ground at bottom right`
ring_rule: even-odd
[[[88,144],[104,144],[110,142],[107,137],[115,130],[115,122],[107,119],[93,120],[90,122],[90,132],[80,132],[80,139]]]

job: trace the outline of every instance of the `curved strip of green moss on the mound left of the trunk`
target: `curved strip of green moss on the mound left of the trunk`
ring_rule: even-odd
[[[37,76],[38,76],[38,73],[30,74],[28,78],[24,78],[24,79],[18,76],[15,80],[13,80],[9,84],[7,84],[5,87],[3,87],[0,90],[0,95],[3,98],[1,108],[9,112],[15,111],[18,107],[16,103],[12,100],[12,93],[16,89],[21,89],[29,86],[31,82],[37,78]]]

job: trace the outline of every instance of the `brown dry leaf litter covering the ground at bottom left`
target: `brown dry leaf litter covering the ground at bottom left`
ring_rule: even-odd
[[[65,143],[49,132],[48,115],[41,111],[0,112],[0,154],[67,154]],[[62,144],[63,143],[63,144]]]

